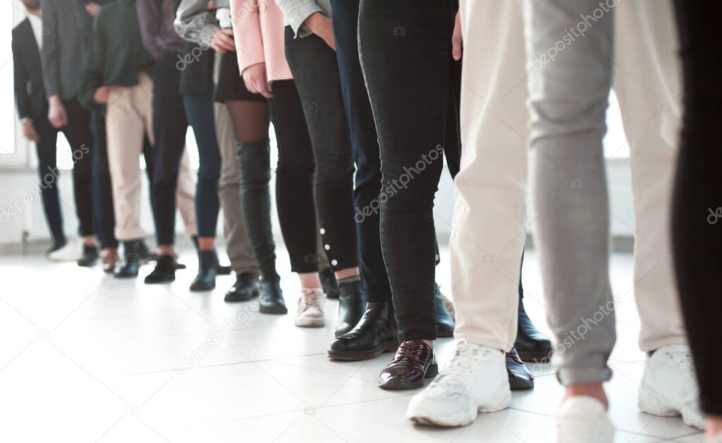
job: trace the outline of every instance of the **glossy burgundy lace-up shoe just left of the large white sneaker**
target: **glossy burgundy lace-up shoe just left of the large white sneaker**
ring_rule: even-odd
[[[436,377],[438,373],[434,350],[424,340],[406,340],[378,376],[378,387],[387,390],[415,389],[424,386],[424,379]]]

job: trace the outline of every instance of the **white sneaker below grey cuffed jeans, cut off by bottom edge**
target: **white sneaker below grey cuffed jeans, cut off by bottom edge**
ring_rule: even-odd
[[[604,404],[586,395],[567,398],[557,412],[557,443],[579,442],[614,442],[614,425]]]

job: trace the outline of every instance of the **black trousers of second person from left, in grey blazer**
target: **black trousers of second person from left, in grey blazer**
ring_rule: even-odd
[[[75,209],[79,220],[78,233],[92,236],[93,225],[93,175],[92,175],[92,134],[90,132],[90,113],[76,98],[63,100],[68,114],[68,124],[61,128],[71,148],[73,157],[73,187]]]

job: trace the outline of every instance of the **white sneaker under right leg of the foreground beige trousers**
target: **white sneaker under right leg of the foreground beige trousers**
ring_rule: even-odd
[[[640,410],[654,416],[682,416],[688,426],[705,428],[699,407],[692,354],[687,345],[669,345],[647,357],[639,388]]]

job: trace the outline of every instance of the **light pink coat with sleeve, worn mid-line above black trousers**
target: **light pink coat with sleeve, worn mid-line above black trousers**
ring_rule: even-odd
[[[269,81],[291,79],[284,43],[283,13],[274,0],[230,0],[238,70],[266,63]]]

